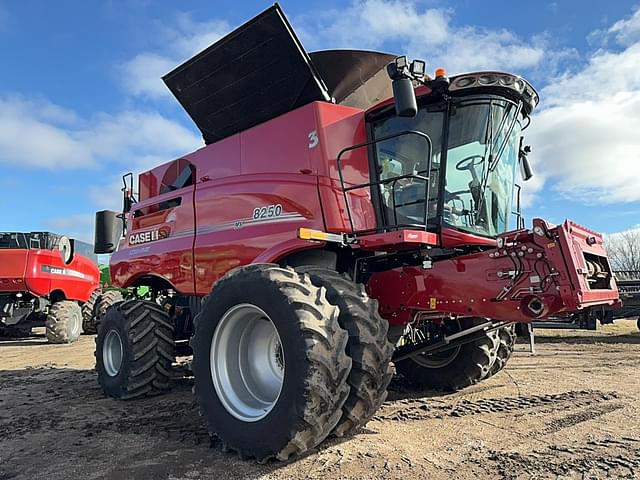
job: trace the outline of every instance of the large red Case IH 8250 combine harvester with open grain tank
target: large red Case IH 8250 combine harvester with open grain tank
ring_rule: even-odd
[[[114,284],[156,299],[99,324],[110,396],[166,390],[190,339],[210,433],[284,460],[364,425],[392,363],[463,388],[504,366],[514,322],[617,301],[601,235],[524,227],[521,77],[307,54],[276,4],[164,80],[207,146],[142,173],[137,198],[125,176],[124,213],[96,215]]]

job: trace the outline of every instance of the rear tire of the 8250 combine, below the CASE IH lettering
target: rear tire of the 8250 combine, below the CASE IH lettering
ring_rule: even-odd
[[[129,400],[169,390],[173,325],[160,305],[128,300],[110,308],[98,325],[98,382],[110,397]]]

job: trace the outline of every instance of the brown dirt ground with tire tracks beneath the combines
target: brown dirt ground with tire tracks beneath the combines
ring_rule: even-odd
[[[506,370],[452,395],[394,379],[367,429],[258,465],[210,442],[185,368],[165,396],[119,402],[97,384],[94,338],[0,340],[0,480],[640,478],[640,333],[537,331]]]

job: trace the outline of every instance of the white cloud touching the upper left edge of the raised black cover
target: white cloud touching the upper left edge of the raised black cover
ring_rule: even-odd
[[[132,95],[161,98],[170,95],[162,76],[205,49],[231,30],[222,20],[197,22],[181,13],[175,25],[160,34],[158,51],[142,52],[119,66],[119,77]]]

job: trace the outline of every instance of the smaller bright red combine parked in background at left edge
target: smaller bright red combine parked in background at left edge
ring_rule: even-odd
[[[0,335],[46,326],[49,342],[75,342],[100,287],[92,250],[50,232],[0,233]]]

